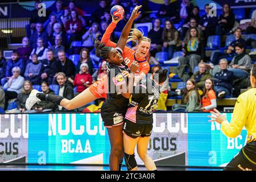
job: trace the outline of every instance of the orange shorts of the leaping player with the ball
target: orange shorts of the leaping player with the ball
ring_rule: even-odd
[[[108,76],[105,75],[101,77],[100,80],[94,82],[90,85],[89,90],[93,93],[93,95],[97,98],[106,98],[108,94]]]

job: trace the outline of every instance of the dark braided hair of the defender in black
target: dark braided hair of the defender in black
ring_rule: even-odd
[[[96,34],[95,42],[94,42],[94,47],[96,49],[96,56],[101,57],[102,59],[106,60],[109,58],[109,52],[112,47],[106,46],[104,43],[100,42],[98,40],[98,36],[100,34]]]

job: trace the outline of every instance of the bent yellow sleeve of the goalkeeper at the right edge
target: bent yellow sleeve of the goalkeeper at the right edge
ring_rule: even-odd
[[[242,100],[241,97],[238,97],[230,123],[228,121],[221,123],[222,133],[227,137],[236,138],[237,135],[241,133],[243,126],[245,126],[247,119],[246,112],[245,100]]]

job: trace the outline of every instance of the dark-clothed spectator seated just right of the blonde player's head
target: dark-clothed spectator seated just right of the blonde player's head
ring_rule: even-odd
[[[154,28],[148,32],[148,38],[151,39],[150,52],[155,57],[156,52],[160,52],[162,49],[162,33],[163,28],[160,27],[161,20],[156,18],[154,20]]]

